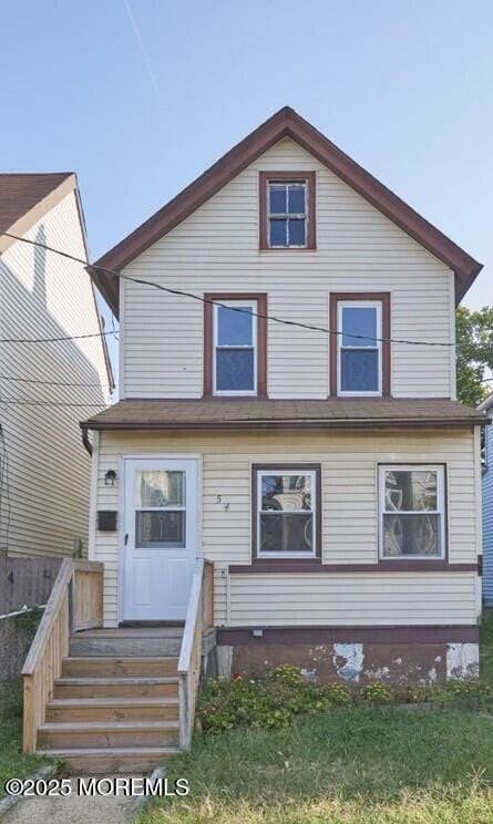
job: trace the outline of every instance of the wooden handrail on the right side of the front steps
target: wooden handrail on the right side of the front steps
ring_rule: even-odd
[[[195,698],[201,679],[202,637],[214,620],[214,578],[210,576],[214,576],[213,562],[207,558],[197,558],[178,659],[179,745],[182,749],[188,749],[191,745],[195,720]]]

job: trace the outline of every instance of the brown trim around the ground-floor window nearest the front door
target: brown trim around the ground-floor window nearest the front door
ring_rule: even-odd
[[[283,472],[283,470],[299,470],[300,472],[315,472],[317,478],[317,490],[315,495],[315,525],[317,531],[317,538],[315,545],[315,557],[311,558],[259,558],[258,553],[258,535],[257,535],[257,473],[259,471],[271,470],[273,472]],[[279,566],[284,568],[285,565],[296,567],[316,567],[321,563],[321,547],[322,547],[322,513],[321,513],[321,464],[314,463],[265,463],[265,464],[251,464],[251,557],[253,565],[257,569],[261,569],[264,565],[266,567]]]

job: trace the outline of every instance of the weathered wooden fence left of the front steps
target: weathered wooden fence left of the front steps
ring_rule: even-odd
[[[24,604],[33,607],[50,597],[63,558],[0,556],[0,615]]]

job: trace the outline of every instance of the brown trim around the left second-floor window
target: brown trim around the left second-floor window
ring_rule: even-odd
[[[256,300],[257,301],[257,396],[267,396],[267,293],[266,292],[205,292],[205,301]],[[213,394],[213,303],[204,302],[204,395]],[[242,398],[242,395],[232,395]],[[246,395],[251,398],[253,395]]]

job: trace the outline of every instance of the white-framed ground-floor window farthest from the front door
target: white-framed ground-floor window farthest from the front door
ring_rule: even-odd
[[[445,470],[379,467],[380,557],[445,557]]]

